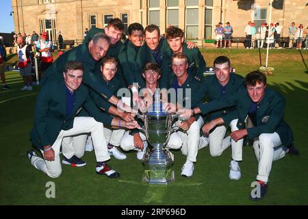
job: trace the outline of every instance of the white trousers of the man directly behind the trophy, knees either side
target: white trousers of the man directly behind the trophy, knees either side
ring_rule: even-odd
[[[141,132],[139,134],[142,141],[146,142],[146,136],[144,136],[144,134]],[[182,140],[180,136],[176,132],[172,133],[170,135],[166,148],[180,149],[181,146],[182,146]],[[121,140],[120,147],[123,149],[123,151],[130,151],[130,150],[140,151],[140,149],[137,149],[133,144],[133,136],[129,134],[129,131],[125,131],[125,134]]]

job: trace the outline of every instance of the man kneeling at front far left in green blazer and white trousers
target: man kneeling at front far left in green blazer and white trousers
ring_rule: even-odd
[[[81,84],[83,75],[84,68],[81,62],[68,61],[64,68],[64,80],[46,84],[41,88],[36,101],[31,141],[40,149],[44,159],[38,157],[33,150],[28,151],[27,157],[35,168],[49,177],[60,177],[62,172],[60,147],[63,138],[91,133],[97,158],[97,174],[112,178],[120,177],[118,172],[105,163],[110,159],[110,155],[103,135],[103,123],[127,129],[138,127],[138,123],[136,121],[126,123],[101,112],[90,99],[88,88]],[[93,117],[75,117],[82,107]],[[70,151],[82,150],[74,147]],[[66,163],[71,166],[86,165],[76,155],[66,158]]]

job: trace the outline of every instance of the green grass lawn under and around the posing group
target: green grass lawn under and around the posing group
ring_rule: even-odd
[[[257,50],[203,49],[207,66],[218,55],[228,55],[237,73],[246,75],[259,67]],[[301,55],[302,54],[302,55]],[[261,51],[265,63],[265,51]],[[242,178],[229,179],[231,149],[220,157],[211,157],[209,148],[198,152],[194,175],[181,177],[185,156],[175,154],[175,181],[169,185],[147,185],[142,182],[143,166],[136,152],[127,159],[109,164],[120,172],[119,179],[95,174],[94,152],[86,153],[82,168],[62,166],[62,175],[51,179],[29,163],[29,131],[34,121],[34,105],[39,86],[23,92],[18,72],[5,73],[12,90],[0,91],[0,204],[1,205],[308,205],[308,51],[270,51],[274,75],[268,77],[270,88],[285,96],[285,120],[294,131],[299,157],[286,155],[274,162],[266,197],[258,202],[248,200],[251,182],[257,175],[257,159],[252,146],[244,146],[240,164]],[[264,64],[263,64],[264,65]],[[55,183],[55,198],[46,198],[46,183]]]

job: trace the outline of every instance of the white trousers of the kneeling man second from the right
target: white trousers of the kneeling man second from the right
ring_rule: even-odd
[[[238,119],[234,119],[230,123],[231,131],[237,131]],[[235,161],[242,161],[242,148],[243,148],[243,139],[235,140],[231,139],[230,136],[224,138],[226,134],[226,127],[223,125],[218,126],[209,133],[209,153],[212,157],[217,157],[222,154],[230,145],[232,148],[232,159]]]

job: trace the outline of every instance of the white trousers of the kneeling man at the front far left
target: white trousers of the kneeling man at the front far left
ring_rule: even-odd
[[[57,136],[57,139],[53,143],[52,148],[53,151],[55,151],[54,161],[49,162],[40,157],[32,157],[31,159],[31,164],[38,170],[46,173],[49,177],[56,178],[60,177],[61,175],[62,166],[60,162],[60,147],[64,137],[76,136],[80,135],[81,133],[91,133],[97,162],[103,162],[107,159],[110,159],[110,155],[107,151],[107,143],[103,137],[103,123],[97,122],[92,117],[75,117],[73,124],[74,125],[72,129],[61,130]],[[77,151],[84,150],[84,144],[82,144],[83,149],[78,148],[78,146],[81,146],[81,144],[76,144],[75,148]],[[65,146],[63,145],[62,150],[66,151],[66,153],[69,153],[69,151],[74,151],[73,144],[66,144]],[[44,151],[41,150],[41,152],[42,155],[44,155]]]

